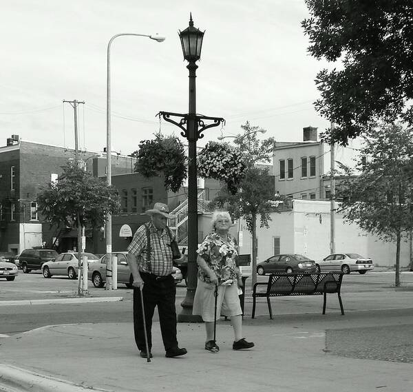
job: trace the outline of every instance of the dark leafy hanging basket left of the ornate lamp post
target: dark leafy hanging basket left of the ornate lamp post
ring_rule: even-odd
[[[187,178],[187,156],[176,136],[156,134],[154,140],[141,141],[133,155],[137,158],[135,172],[147,178],[163,174],[165,187],[172,192],[178,192]]]

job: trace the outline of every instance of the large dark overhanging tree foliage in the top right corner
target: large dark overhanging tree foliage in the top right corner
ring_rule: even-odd
[[[375,121],[413,125],[413,6],[410,0],[306,0],[301,25],[316,59],[340,62],[315,80],[316,110],[346,145],[375,129]],[[330,131],[323,135],[330,141]]]

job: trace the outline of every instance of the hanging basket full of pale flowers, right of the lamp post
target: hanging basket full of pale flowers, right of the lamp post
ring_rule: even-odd
[[[240,150],[228,143],[211,141],[198,154],[198,176],[226,183],[231,194],[237,193],[245,168]]]

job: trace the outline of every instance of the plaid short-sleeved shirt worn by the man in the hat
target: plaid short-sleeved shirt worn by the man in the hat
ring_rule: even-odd
[[[134,254],[138,262],[138,269],[157,276],[166,276],[172,272],[171,238],[167,229],[161,234],[153,223],[149,223],[151,233],[151,260],[147,262],[147,232],[145,225],[136,230],[134,238],[127,250]]]

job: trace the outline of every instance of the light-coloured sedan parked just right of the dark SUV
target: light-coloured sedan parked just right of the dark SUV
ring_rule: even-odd
[[[87,264],[89,262],[98,261],[98,256],[92,253],[82,253],[82,256],[87,256]],[[73,252],[64,252],[59,254],[54,260],[47,261],[43,264],[42,272],[45,278],[52,278],[54,275],[69,276],[70,279],[77,278],[78,270],[78,254]]]

